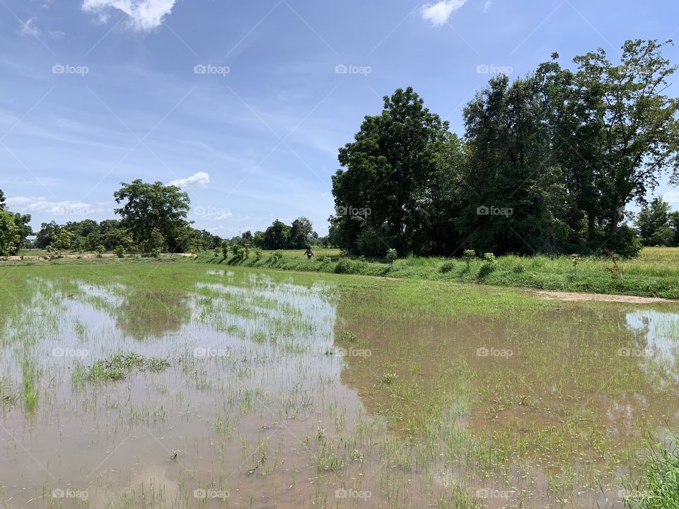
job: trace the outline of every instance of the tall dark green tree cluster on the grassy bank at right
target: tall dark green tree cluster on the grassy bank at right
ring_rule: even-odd
[[[645,205],[663,175],[679,181],[670,43],[629,40],[619,63],[598,49],[574,69],[555,53],[528,76],[494,76],[464,108],[461,137],[412,88],[385,96],[340,148],[330,241],[375,256],[634,256],[626,206]]]

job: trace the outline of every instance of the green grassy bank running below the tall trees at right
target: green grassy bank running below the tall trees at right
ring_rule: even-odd
[[[209,251],[200,253],[196,260],[210,264],[294,271],[679,299],[679,248],[646,247],[638,258],[616,262],[601,258],[508,255],[498,257],[494,262],[479,258],[465,261],[407,257],[388,264],[375,259],[342,257],[338,250],[318,250],[315,254],[310,261],[299,250],[251,250],[248,258],[231,256],[224,259],[221,254],[216,256]]]

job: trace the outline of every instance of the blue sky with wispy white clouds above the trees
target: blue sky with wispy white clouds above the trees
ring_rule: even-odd
[[[112,218],[141,178],[223,237],[298,216],[323,234],[337,148],[383,95],[413,86],[461,134],[492,72],[678,36],[668,0],[0,0],[0,189],[33,228]]]

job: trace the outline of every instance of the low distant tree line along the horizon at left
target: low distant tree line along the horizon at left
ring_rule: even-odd
[[[303,249],[327,242],[319,238],[311,221],[300,217],[286,225],[276,220],[265,231],[248,230],[229,240],[207,230],[193,228],[187,221],[191,200],[179,187],[162,182],[122,182],[114,194],[120,205],[120,219],[93,221],[56,221],[42,223],[33,233],[30,215],[6,210],[0,190],[0,255],[18,254],[22,247],[63,250],[159,254],[160,252],[197,252],[231,245],[267,250]],[[28,240],[35,235],[35,240]]]

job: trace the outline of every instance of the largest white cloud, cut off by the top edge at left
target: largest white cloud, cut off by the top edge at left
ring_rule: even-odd
[[[98,14],[100,20],[108,20],[111,9],[129,16],[134,30],[153,30],[163,23],[172,12],[176,0],[83,0],[83,11]]]

